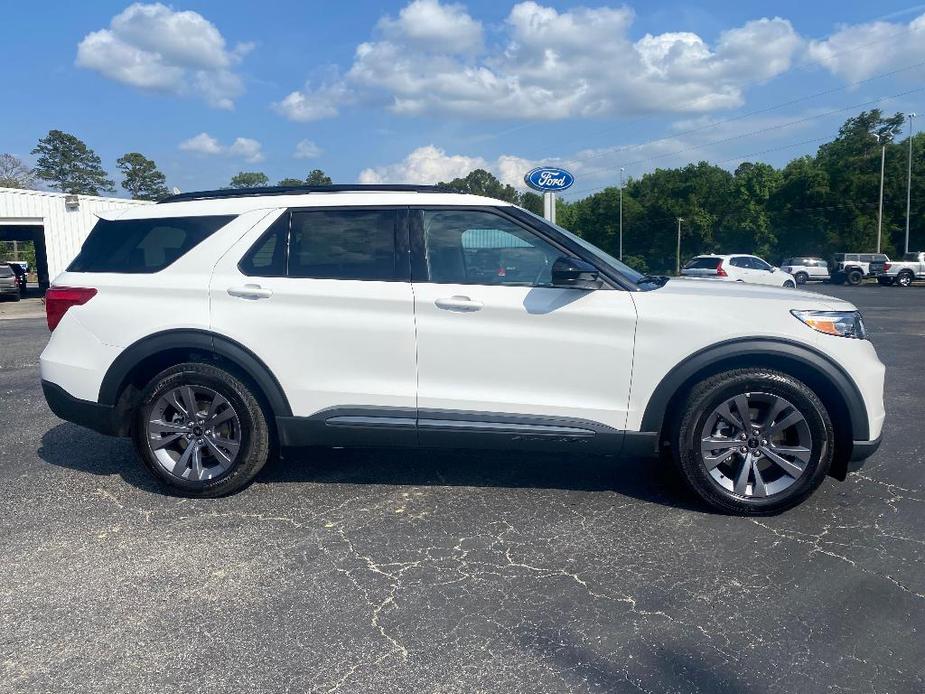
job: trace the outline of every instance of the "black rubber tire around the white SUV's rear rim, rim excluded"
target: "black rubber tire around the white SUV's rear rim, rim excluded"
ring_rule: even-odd
[[[237,415],[237,453],[228,469],[211,479],[194,481],[172,474],[159,462],[152,449],[147,424],[153,409],[162,396],[182,386],[218,393]],[[148,470],[172,490],[195,497],[225,496],[247,486],[267,462],[271,449],[266,415],[250,388],[223,369],[196,362],[172,366],[151,379],[135,411],[132,439]]]

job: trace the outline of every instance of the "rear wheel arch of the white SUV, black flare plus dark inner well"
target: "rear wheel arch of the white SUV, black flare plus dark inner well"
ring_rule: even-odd
[[[164,369],[185,361],[203,361],[224,367],[248,381],[271,420],[292,415],[279,381],[249,349],[207,330],[167,330],[129,345],[103,377],[98,401],[115,408],[119,435],[129,433],[129,413],[145,384]]]

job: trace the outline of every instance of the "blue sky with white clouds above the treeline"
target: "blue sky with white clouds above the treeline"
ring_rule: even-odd
[[[3,17],[0,151],[30,161],[58,128],[113,174],[140,151],[182,190],[316,167],[516,183],[555,162],[583,194],[621,167],[779,165],[862,108],[925,111],[925,5],[908,2],[97,0]]]

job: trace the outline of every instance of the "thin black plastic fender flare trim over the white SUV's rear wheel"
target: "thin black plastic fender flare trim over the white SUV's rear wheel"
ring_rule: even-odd
[[[189,350],[206,352],[225,359],[257,384],[276,417],[292,416],[292,408],[279,381],[269,367],[249,349],[231,338],[208,330],[166,330],[143,337],[126,347],[109,366],[100,384],[98,401],[115,406],[135,367],[163,352]]]

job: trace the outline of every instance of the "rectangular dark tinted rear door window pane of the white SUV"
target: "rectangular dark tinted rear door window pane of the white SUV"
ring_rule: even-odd
[[[397,215],[393,210],[293,212],[289,276],[396,280]]]

